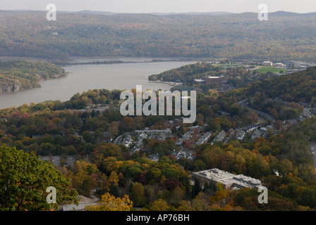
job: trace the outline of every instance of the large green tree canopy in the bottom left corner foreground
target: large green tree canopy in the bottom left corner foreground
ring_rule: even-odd
[[[78,203],[69,179],[48,162],[8,146],[0,147],[0,210],[42,211],[61,203]],[[47,203],[47,188],[56,188],[56,203]]]

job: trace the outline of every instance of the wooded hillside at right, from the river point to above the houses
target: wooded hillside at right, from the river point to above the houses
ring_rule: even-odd
[[[150,75],[148,78],[199,86],[207,93],[212,86],[195,84],[194,79],[219,75],[224,75],[227,84],[235,88],[219,96],[218,101],[222,105],[227,104],[224,100],[230,99],[231,102],[231,99],[234,99],[235,102],[231,103],[236,103],[249,98],[249,106],[252,108],[269,113],[276,119],[286,120],[298,117],[303,111],[302,104],[306,106],[316,103],[316,67],[292,74],[272,76],[272,72],[263,74],[241,65],[224,67],[224,65],[203,62],[184,65],[158,75]],[[231,115],[238,112],[234,106],[227,105],[223,109],[228,110]]]

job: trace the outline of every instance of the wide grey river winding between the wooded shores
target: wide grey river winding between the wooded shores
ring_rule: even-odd
[[[130,61],[135,62],[137,58]],[[196,61],[66,65],[63,68],[69,72],[68,77],[44,80],[39,88],[0,94],[0,108],[47,100],[68,101],[74,94],[89,89],[130,90],[141,84],[142,90],[168,90],[169,84],[150,82],[148,76],[191,63]]]

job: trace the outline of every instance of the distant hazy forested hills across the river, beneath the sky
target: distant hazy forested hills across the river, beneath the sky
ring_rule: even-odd
[[[1,56],[205,57],[307,60],[316,57],[316,14],[276,12],[150,15],[0,12]]]

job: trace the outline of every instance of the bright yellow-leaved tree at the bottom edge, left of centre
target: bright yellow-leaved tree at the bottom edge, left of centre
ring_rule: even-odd
[[[124,195],[123,198],[115,198],[109,193],[102,195],[101,201],[97,205],[88,205],[86,211],[130,211],[133,202]]]

